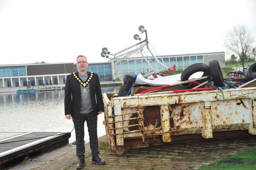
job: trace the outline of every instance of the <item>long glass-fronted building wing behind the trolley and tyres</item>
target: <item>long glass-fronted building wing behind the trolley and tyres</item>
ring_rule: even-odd
[[[162,65],[154,61],[153,57],[149,58],[150,65],[153,66],[155,70],[163,68]],[[214,53],[198,53],[198,54],[179,54],[179,55],[161,55],[157,57],[160,62],[168,67],[173,65],[176,66],[176,70],[184,70],[189,65],[194,63],[204,63],[208,65],[211,59],[217,59],[221,68],[225,67],[225,53],[224,52],[214,52]],[[154,61],[154,62],[152,62]],[[125,73],[139,72],[142,70],[144,72],[153,72],[153,69],[150,68],[147,62],[143,61],[141,57],[126,58],[120,62],[120,59],[113,59],[111,65],[114,66],[112,73],[114,73],[114,79],[118,76],[124,75]],[[117,62],[117,63],[115,63]],[[116,65],[115,65],[116,64]],[[115,70],[114,70],[115,69]]]

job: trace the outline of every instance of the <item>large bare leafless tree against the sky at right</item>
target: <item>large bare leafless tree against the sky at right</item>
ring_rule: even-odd
[[[228,51],[232,51],[238,56],[242,67],[244,67],[245,61],[247,61],[250,56],[251,45],[253,42],[254,38],[252,33],[250,33],[243,24],[234,26],[228,31],[224,46]]]

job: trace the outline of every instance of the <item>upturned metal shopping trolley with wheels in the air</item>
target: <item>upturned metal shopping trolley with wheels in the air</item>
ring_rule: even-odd
[[[101,56],[113,61],[114,79],[120,78],[123,81],[125,75],[135,72],[139,72],[143,77],[147,77],[153,73],[159,73],[168,69],[163,59],[159,57],[147,40],[147,30],[144,26],[139,26],[139,31],[141,34],[145,33],[146,36],[145,40],[141,40],[141,37],[135,34],[134,39],[139,40],[139,43],[117,53],[110,53],[106,47],[102,48]]]

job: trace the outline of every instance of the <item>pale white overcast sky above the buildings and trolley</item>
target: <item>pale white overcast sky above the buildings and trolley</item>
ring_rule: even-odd
[[[0,65],[108,61],[102,48],[137,43],[140,25],[159,55],[226,52],[243,23],[255,36],[256,0],[0,0]]]

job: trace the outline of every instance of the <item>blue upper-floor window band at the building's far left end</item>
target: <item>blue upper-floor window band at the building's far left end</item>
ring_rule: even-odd
[[[0,77],[26,76],[26,68],[1,68]]]

